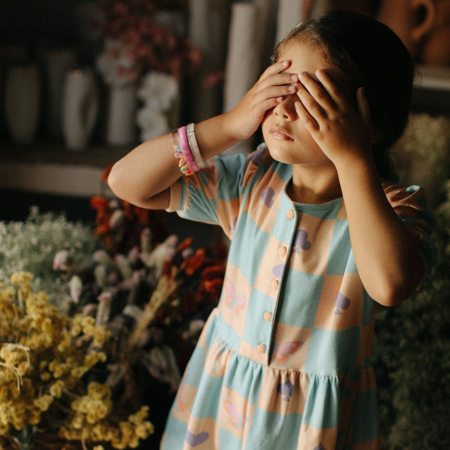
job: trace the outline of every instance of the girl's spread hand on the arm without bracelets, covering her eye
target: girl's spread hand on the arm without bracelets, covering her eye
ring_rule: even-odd
[[[372,157],[374,138],[364,89],[356,92],[356,112],[326,72],[318,70],[316,76],[324,88],[305,72],[299,74],[295,109],[306,129],[335,165],[342,158]]]

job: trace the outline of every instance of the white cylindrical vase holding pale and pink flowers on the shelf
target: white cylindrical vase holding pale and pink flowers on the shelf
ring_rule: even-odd
[[[136,83],[111,86],[106,130],[108,144],[130,145],[135,143],[136,91]]]

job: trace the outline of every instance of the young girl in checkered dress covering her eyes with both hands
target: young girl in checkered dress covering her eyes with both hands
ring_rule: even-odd
[[[139,145],[108,178],[232,239],[162,450],[378,449],[375,306],[404,301],[435,260],[423,190],[387,181],[413,81],[401,40],[332,11],[274,60],[232,111]],[[254,153],[213,157],[261,122]]]

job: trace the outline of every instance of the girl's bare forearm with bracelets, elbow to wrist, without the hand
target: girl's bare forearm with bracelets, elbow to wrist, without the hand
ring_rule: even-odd
[[[230,123],[227,113],[195,126],[195,136],[204,161],[238,142]],[[108,176],[108,184],[117,197],[137,206],[148,207],[149,199],[180,178],[178,162],[174,156],[172,135],[160,136],[140,144],[117,161]]]

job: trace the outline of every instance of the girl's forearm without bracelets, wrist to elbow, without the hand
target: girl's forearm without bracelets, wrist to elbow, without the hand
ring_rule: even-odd
[[[378,303],[400,303],[425,273],[417,238],[389,204],[372,160],[340,162],[337,169],[361,281]]]

